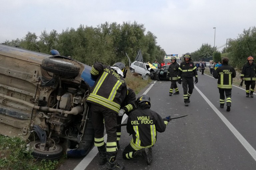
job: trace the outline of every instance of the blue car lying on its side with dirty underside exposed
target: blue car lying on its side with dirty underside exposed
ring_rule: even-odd
[[[85,156],[94,144],[86,104],[91,66],[0,44],[0,134],[21,136],[38,159]]]

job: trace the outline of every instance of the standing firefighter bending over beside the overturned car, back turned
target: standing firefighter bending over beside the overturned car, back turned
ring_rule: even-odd
[[[116,126],[117,115],[123,103],[127,87],[124,77],[127,70],[121,62],[112,67],[99,62],[94,63],[91,77],[95,79],[92,93],[87,98],[91,104],[92,124],[94,128],[94,144],[99,151],[99,164],[107,162],[108,169],[123,170],[123,166],[116,163]],[[104,143],[104,124],[107,133],[107,143]]]

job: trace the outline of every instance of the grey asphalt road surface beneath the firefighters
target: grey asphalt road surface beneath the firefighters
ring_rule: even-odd
[[[188,107],[184,106],[182,85],[178,84],[180,94],[173,96],[169,96],[169,81],[156,81],[142,91],[150,96],[151,109],[163,118],[189,116],[172,120],[165,132],[158,133],[150,166],[142,158],[123,160],[122,151],[131,140],[123,127],[117,155],[120,165],[127,170],[256,169],[256,95],[246,98],[244,89],[233,86],[232,107],[227,112],[226,106],[219,107],[217,80],[201,73],[198,79]],[[84,158],[68,158],[59,169],[106,169],[106,165],[98,165],[96,154],[94,148]]]

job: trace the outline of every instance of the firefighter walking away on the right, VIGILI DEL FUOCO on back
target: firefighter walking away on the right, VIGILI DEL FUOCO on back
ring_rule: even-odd
[[[213,77],[218,79],[218,89],[220,93],[220,108],[224,108],[226,95],[227,111],[229,112],[231,107],[232,81],[233,78],[236,77],[236,71],[233,67],[228,65],[227,57],[222,58],[222,66],[219,66],[213,72]]]

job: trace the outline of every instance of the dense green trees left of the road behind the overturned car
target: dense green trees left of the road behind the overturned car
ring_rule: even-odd
[[[23,39],[5,41],[12,46],[50,54],[51,49],[56,49],[63,56],[92,65],[100,61],[106,65],[123,62],[128,65],[128,57],[134,61],[139,49],[142,51],[143,60],[162,61],[166,54],[157,37],[150,31],[146,32],[143,24],[137,22],[116,22],[100,24],[97,27],[80,25],[76,30],[67,28],[62,33],[45,30],[40,36],[28,32]]]

